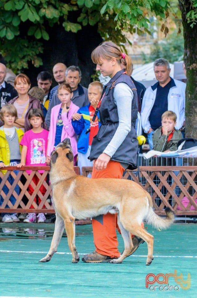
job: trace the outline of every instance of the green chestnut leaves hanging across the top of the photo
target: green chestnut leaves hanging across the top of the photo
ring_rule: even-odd
[[[74,33],[82,26],[97,25],[103,39],[124,48],[127,39],[122,31],[149,32],[149,12],[164,18],[168,7],[166,0],[2,0],[1,52],[14,70],[28,68],[29,61],[35,67],[42,65],[43,42],[55,34],[55,24]]]

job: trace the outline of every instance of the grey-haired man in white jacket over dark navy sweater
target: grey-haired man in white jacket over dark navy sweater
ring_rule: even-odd
[[[181,129],[185,121],[186,84],[170,77],[171,69],[166,59],[155,60],[153,69],[158,82],[146,89],[141,110],[142,128],[147,133],[150,150],[153,149],[152,134],[161,126],[161,115],[165,111],[176,113],[176,129]]]

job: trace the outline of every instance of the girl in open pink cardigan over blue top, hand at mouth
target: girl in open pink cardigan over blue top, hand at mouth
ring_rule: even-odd
[[[51,109],[46,164],[49,165],[50,154],[54,150],[55,146],[62,142],[65,138],[69,138],[71,141],[75,165],[78,153],[77,135],[72,127],[71,120],[72,115],[77,113],[79,107],[71,101],[73,93],[69,84],[60,84],[57,96],[61,103]]]

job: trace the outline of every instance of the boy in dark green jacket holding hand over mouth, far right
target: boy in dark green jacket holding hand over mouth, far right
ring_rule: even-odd
[[[173,111],[165,111],[161,116],[161,126],[152,136],[153,150],[168,152],[177,150],[182,133],[175,128],[177,115]]]

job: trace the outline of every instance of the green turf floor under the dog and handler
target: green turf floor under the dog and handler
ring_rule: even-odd
[[[154,236],[150,266],[145,265],[146,243],[122,264],[72,264],[65,234],[51,261],[38,263],[49,250],[54,224],[0,223],[0,298],[196,298],[197,224],[174,224],[166,231],[145,227]],[[120,235],[118,239],[121,252]],[[76,226],[76,246],[80,259],[94,251],[91,225]],[[174,275],[176,271],[177,280],[170,276],[167,283],[171,290],[164,290],[166,284],[156,281],[146,288],[146,279],[161,282],[166,273]],[[190,286],[179,283],[180,274],[182,280],[190,280]]]

